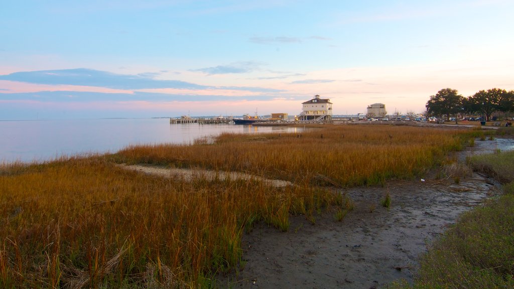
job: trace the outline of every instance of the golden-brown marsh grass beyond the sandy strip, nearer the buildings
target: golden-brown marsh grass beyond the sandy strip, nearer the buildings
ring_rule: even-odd
[[[418,176],[446,152],[463,149],[456,135],[455,131],[415,127],[325,125],[302,132],[302,137],[226,133],[208,145],[129,147],[111,159],[347,187]]]

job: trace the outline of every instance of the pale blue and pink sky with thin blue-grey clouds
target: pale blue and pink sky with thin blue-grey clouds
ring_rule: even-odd
[[[424,111],[514,89],[512,0],[2,0],[0,120]]]

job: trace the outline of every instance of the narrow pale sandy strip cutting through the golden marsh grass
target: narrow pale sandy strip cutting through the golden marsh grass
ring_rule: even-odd
[[[195,170],[189,170],[189,169],[177,169],[177,168],[163,168],[163,167],[155,167],[155,166],[141,166],[141,165],[125,165],[121,164],[120,167],[127,169],[127,170],[133,170],[142,172],[145,174],[152,174],[152,175],[158,175],[163,177],[176,177],[176,178],[183,178],[185,180],[192,180],[195,177],[205,177],[207,179],[214,179],[216,177],[219,177],[221,179],[258,179],[262,180],[265,183],[268,183],[271,186],[274,187],[286,187],[291,186],[292,183],[288,182],[287,180],[280,180],[280,179],[267,179],[262,178],[259,176],[251,175],[251,174],[245,174],[240,172],[216,172],[211,170],[201,170],[201,169],[195,169]]]

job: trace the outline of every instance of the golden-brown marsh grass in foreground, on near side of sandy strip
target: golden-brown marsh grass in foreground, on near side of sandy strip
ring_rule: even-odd
[[[253,223],[287,230],[291,208],[316,213],[339,202],[323,189],[182,182],[125,171],[103,158],[3,171],[2,287],[145,287],[145,278],[194,287],[240,262],[242,234]]]

